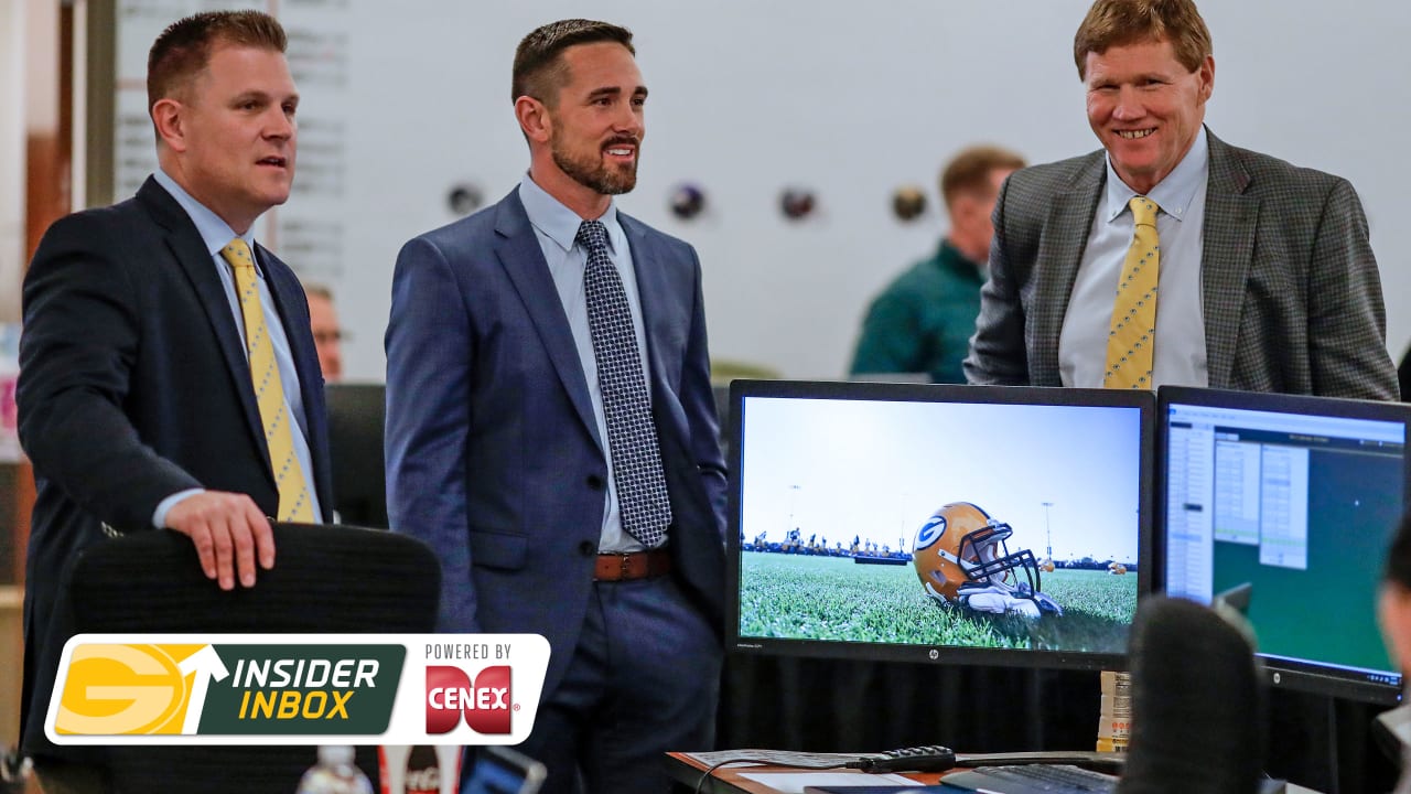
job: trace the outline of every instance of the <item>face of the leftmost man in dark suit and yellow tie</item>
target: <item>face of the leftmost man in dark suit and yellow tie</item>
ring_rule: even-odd
[[[299,93],[284,54],[217,44],[205,71],[152,106],[162,168],[236,233],[289,198]]]

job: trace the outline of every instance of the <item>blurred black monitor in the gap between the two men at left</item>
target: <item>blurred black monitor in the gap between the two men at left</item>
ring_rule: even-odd
[[[381,383],[330,383],[323,387],[329,408],[329,452],[333,455],[333,509],[343,524],[388,526],[384,393]]]

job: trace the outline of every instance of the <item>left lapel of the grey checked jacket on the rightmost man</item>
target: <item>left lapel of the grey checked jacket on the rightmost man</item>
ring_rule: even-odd
[[[1105,178],[1106,160],[1099,151],[1067,191],[1054,194],[1044,219],[1034,264],[1031,321],[1034,338],[1053,339],[1054,343],[1030,346],[1034,360],[1029,362],[1029,367],[1034,383],[1060,383],[1057,340]]]

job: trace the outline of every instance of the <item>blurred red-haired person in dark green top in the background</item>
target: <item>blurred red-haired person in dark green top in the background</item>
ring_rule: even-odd
[[[995,146],[967,148],[945,164],[940,186],[951,229],[934,256],[872,301],[851,374],[927,373],[933,383],[965,383],[961,362],[995,236],[991,213],[1005,178],[1023,167],[1023,157]]]

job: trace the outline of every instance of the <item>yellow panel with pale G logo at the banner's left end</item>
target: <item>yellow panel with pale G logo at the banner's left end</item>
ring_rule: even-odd
[[[202,653],[205,651],[205,653]],[[205,688],[203,644],[83,644],[73,648],[54,729],[83,736],[183,733]],[[219,664],[219,663],[217,663]],[[190,716],[200,718],[200,704]]]

